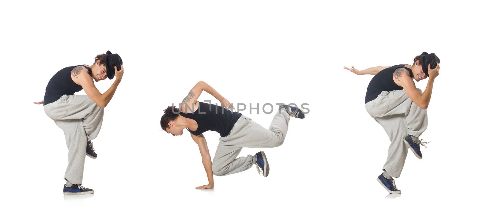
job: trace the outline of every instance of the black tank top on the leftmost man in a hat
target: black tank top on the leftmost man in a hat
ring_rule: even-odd
[[[63,95],[73,95],[75,92],[79,92],[83,89],[81,85],[73,82],[71,79],[71,70],[76,66],[66,67],[58,71],[50,79],[45,89],[45,97],[43,99],[43,105],[53,103],[57,101]],[[91,68],[83,65],[88,73],[91,75]]]

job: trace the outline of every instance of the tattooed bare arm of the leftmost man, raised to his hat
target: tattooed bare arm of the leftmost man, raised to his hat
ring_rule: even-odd
[[[93,79],[91,79],[90,74],[88,74],[87,70],[83,66],[75,67],[71,71],[71,75],[73,78],[79,79],[81,87],[83,87],[83,90],[91,98],[91,100],[93,100],[98,106],[104,108],[112,100],[116,88],[120,84],[123,77],[123,71],[123,66],[121,67],[120,71],[117,71],[115,66],[115,81],[112,86],[103,94],[100,93],[100,91],[98,91],[98,89],[95,87]]]

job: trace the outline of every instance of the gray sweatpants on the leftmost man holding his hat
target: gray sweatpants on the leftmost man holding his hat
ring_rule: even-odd
[[[64,178],[72,184],[81,184],[87,141],[95,139],[100,132],[103,108],[88,95],[63,95],[45,105],[44,110],[65,134],[68,166]]]

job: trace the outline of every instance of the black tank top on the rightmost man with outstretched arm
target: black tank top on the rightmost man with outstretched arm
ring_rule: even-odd
[[[394,83],[393,73],[398,68],[405,68],[409,71],[409,75],[412,77],[412,71],[409,68],[404,67],[405,65],[395,65],[390,68],[384,69],[379,71],[369,85],[367,86],[366,91],[366,102],[376,99],[377,96],[381,94],[383,91],[394,91],[394,90],[402,90],[403,87]]]

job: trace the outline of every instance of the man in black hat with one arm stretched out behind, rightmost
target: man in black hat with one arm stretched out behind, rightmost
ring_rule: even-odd
[[[422,159],[419,136],[427,128],[427,112],[433,83],[439,75],[439,58],[434,54],[423,52],[413,59],[411,65],[394,65],[389,67],[372,67],[359,71],[353,67],[344,69],[355,74],[375,75],[367,86],[365,107],[373,119],[379,123],[389,136],[388,158],[383,166],[383,173],[377,181],[391,194],[399,194],[393,178],[399,178],[408,147],[419,159]],[[416,88],[414,80],[429,77],[426,89],[422,92]]]

